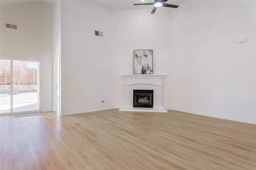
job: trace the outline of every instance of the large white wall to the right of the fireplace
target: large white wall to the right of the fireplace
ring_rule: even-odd
[[[256,123],[255,7],[188,1],[174,11],[174,109]]]

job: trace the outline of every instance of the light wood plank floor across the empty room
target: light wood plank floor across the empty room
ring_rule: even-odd
[[[1,170],[256,169],[256,125],[190,113],[0,117]]]

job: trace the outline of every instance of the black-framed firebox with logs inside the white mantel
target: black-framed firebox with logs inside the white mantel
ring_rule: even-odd
[[[154,90],[133,90],[133,107],[153,107]]]

